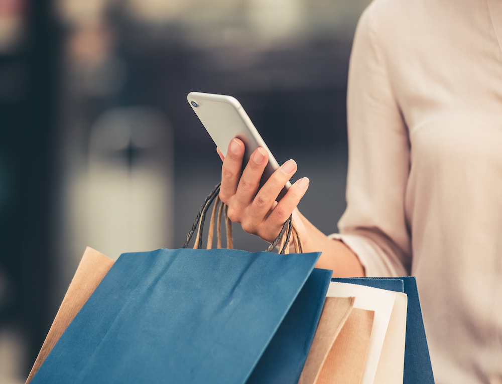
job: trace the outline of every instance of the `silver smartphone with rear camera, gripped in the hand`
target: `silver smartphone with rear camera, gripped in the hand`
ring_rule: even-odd
[[[245,146],[242,169],[249,161],[249,156],[258,147],[262,147],[268,152],[269,163],[263,172],[260,186],[279,168],[279,164],[258,133],[255,125],[235,97],[190,92],[187,100],[223,156],[226,156],[228,145],[232,139],[242,140]],[[279,194],[278,200],[284,196],[289,187],[291,187],[291,183],[288,181]]]

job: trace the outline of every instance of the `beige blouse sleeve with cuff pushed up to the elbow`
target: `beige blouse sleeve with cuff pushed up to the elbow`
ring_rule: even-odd
[[[410,145],[375,33],[373,2],[357,25],[350,56],[347,124],[347,208],[338,222],[342,240],[366,276],[410,274],[405,192]]]

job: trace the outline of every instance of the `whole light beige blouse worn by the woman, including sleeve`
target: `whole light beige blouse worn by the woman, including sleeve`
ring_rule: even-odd
[[[417,277],[437,384],[502,383],[502,0],[374,0],[347,107],[332,237]]]

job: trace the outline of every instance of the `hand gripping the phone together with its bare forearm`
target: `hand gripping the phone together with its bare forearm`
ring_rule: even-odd
[[[308,178],[298,180],[281,201],[276,201],[279,192],[297,170],[293,160],[284,163],[260,188],[260,179],[269,161],[267,151],[258,148],[253,152],[242,172],[242,141],[233,139],[228,145],[226,157],[223,157],[221,151],[217,151],[223,161],[220,198],[228,205],[230,220],[240,223],[244,231],[272,242],[293,212],[303,250],[322,252],[316,268],[333,270],[333,275],[339,277],[364,276],[364,269],[356,254],[343,242],[328,238],[296,208],[307,191]]]

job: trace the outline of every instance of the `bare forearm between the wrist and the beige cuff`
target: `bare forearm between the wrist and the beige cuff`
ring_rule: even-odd
[[[348,246],[340,240],[328,238],[298,210],[295,211],[295,216],[305,226],[306,236],[302,238],[304,252],[322,252],[316,268],[333,270],[334,277],[364,276],[364,268]]]

